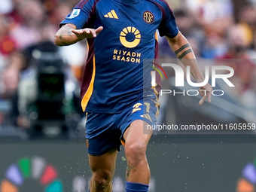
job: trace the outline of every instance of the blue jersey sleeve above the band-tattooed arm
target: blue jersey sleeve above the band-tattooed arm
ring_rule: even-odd
[[[175,17],[172,10],[169,8],[167,2],[160,1],[160,9],[162,11],[162,22],[158,27],[161,37],[167,36],[169,38],[175,38],[178,35],[178,27],[175,22]]]

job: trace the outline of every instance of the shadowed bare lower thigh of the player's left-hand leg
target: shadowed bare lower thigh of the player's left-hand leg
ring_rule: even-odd
[[[88,155],[90,168],[94,174],[102,175],[102,177],[113,176],[115,162],[117,159],[117,149],[111,149],[100,156]]]

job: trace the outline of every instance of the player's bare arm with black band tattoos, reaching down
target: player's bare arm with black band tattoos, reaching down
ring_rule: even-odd
[[[190,66],[190,73],[196,79],[197,83],[203,82],[204,81],[203,74],[197,65],[196,56],[194,55],[194,52],[190,47],[190,44],[188,43],[187,39],[181,34],[181,32],[178,32],[178,35],[176,35],[175,38],[168,38],[168,37],[166,38],[169,43],[169,46],[175,52],[178,59],[181,60],[183,65]],[[206,84],[205,86],[200,87],[199,93],[201,96],[203,96],[203,98],[199,102],[199,105],[202,105],[207,97],[208,97],[208,101],[211,102],[212,86],[210,84]]]

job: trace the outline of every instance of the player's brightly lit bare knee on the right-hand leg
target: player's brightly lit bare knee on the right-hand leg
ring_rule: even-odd
[[[141,142],[126,145],[125,148],[126,158],[135,164],[145,160],[145,152],[146,146]]]

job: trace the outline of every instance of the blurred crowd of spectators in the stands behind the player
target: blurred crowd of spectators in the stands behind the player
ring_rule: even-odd
[[[232,96],[239,105],[256,113],[256,1],[167,2],[197,58],[242,59],[228,64],[235,69],[236,89]],[[66,99],[79,98],[79,81],[87,57],[86,41],[69,47],[53,44],[59,23],[77,3],[78,0],[0,1],[0,126],[6,123],[7,117],[8,124],[28,126],[27,105],[37,94],[32,82],[38,67],[35,62],[38,53],[61,56]],[[159,43],[160,58],[175,58],[165,38],[159,38]],[[74,106],[68,111],[81,113],[79,102],[72,103]]]

